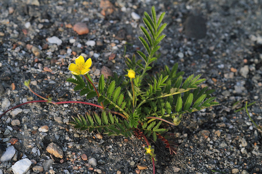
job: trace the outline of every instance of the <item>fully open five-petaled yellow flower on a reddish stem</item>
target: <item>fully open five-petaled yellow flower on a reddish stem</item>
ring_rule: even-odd
[[[79,55],[76,58],[76,64],[70,63],[68,65],[68,69],[71,71],[72,74],[75,75],[84,75],[90,71],[90,66],[92,65],[92,60],[91,58],[87,59],[85,62],[85,59],[83,58],[82,55]]]

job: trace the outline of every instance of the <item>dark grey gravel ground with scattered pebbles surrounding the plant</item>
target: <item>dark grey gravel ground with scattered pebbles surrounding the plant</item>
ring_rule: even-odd
[[[28,79],[34,91],[54,101],[84,101],[65,82],[71,77],[68,64],[80,54],[93,60],[93,81],[105,67],[123,75],[124,46],[129,57],[143,50],[137,36],[142,36],[143,12],[152,5],[157,14],[167,12],[168,23],[154,69],[178,62],[186,75],[203,73],[208,79],[203,85],[216,89],[221,104],[185,115],[170,128],[177,155],[170,155],[161,141],[151,141],[157,173],[262,173],[261,132],[244,110],[234,112],[245,101],[256,101],[249,111],[262,124],[261,0],[1,0],[0,113],[39,100],[23,85]],[[73,28],[79,22],[88,31]],[[27,173],[153,173],[143,140],[101,137],[68,124],[72,115],[97,111],[93,107],[32,103],[19,108],[0,119],[0,153],[9,147],[4,154],[9,151],[12,158],[2,162],[2,155],[3,173],[12,173],[20,159],[31,160]],[[62,159],[46,151],[52,142]],[[148,168],[138,171],[138,164]]]

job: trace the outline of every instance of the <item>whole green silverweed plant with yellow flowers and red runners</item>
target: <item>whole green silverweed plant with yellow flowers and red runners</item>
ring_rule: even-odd
[[[83,56],[80,55],[76,58],[75,63],[69,64],[68,69],[73,78],[68,78],[66,81],[75,84],[74,91],[80,91],[80,95],[85,95],[87,100],[97,97],[100,105],[82,101],[54,102],[32,91],[29,86],[30,80],[24,84],[43,100],[29,101],[21,105],[33,102],[49,102],[55,105],[82,103],[100,108],[99,114],[86,112],[85,115],[72,117],[73,121],[70,123],[76,129],[89,132],[97,130],[108,136],[131,137],[134,135],[139,139],[143,137],[148,146],[145,148],[145,153],[151,156],[153,173],[155,173],[156,156],[147,137],[153,137],[153,141],[156,141],[157,138],[161,139],[170,154],[176,154],[176,148],[173,147],[175,143],[168,140],[172,137],[172,133],[168,133],[167,127],[178,126],[185,113],[200,111],[219,105],[219,103],[214,101],[216,97],[211,96],[215,90],[199,87],[206,80],[200,78],[201,74],[196,76],[192,74],[184,78],[184,72],[177,72],[178,63],[174,64],[172,69],[164,66],[164,70],[147,73],[152,69],[152,63],[159,57],[156,52],[160,48],[160,42],[166,36],[162,32],[167,26],[166,23],[161,24],[165,12],[158,20],[154,7],[151,8],[151,14],[150,17],[147,12],[144,12],[143,22],[146,28],[142,26],[140,28],[145,38],[138,37],[146,51],[137,51],[140,58],[138,60],[136,55],[133,55],[131,59],[126,58],[127,69],[124,76],[117,76],[114,73],[113,77],[105,81],[104,76],[101,75],[97,89],[88,74],[92,64],[90,58],[85,62]],[[86,82],[82,76],[85,77]]]

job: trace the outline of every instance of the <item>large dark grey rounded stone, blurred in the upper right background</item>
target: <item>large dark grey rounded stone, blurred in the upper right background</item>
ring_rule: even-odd
[[[188,37],[202,39],[206,36],[206,21],[202,16],[189,16],[184,23],[185,34]]]

